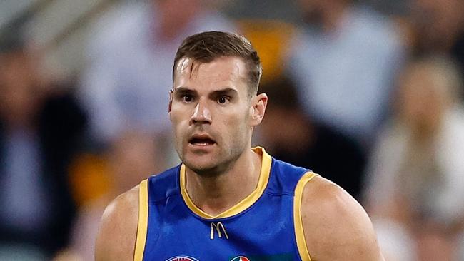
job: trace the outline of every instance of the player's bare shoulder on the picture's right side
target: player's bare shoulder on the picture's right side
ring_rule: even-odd
[[[313,260],[383,260],[367,213],[335,183],[319,176],[306,183],[301,216]]]

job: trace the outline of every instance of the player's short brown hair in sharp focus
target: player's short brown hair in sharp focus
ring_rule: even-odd
[[[245,37],[222,31],[206,31],[193,34],[183,40],[174,58],[173,79],[177,63],[181,58],[193,58],[201,63],[209,63],[224,56],[243,58],[248,67],[248,93],[256,94],[263,74],[258,53]]]

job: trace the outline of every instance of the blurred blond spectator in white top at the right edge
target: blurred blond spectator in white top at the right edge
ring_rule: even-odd
[[[368,168],[366,200],[380,247],[411,238],[418,260],[458,260],[464,221],[464,111],[460,73],[443,57],[421,58],[400,78],[395,115],[383,129]],[[385,242],[390,237],[389,242]],[[390,246],[390,255],[398,249]],[[404,260],[398,257],[396,260]],[[462,260],[462,259],[461,259]]]

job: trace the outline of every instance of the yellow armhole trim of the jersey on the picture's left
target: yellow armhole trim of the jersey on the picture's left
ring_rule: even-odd
[[[145,251],[148,228],[148,180],[143,180],[138,190],[138,226],[136,247],[133,255],[134,261],[142,261],[143,252]]]

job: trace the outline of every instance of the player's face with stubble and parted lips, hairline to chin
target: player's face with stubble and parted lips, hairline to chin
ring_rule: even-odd
[[[227,170],[250,147],[252,128],[261,119],[256,120],[258,96],[248,95],[247,73],[237,57],[178,61],[170,118],[177,153],[198,174]]]

